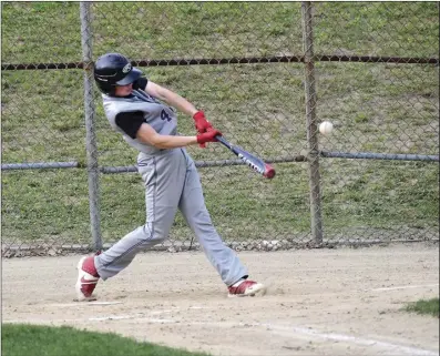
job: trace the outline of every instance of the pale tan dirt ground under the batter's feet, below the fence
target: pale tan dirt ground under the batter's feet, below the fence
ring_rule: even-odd
[[[262,297],[228,298],[201,252],[145,253],[75,303],[80,256],[2,261],[2,322],[115,332],[213,355],[439,355],[438,245],[241,252]]]

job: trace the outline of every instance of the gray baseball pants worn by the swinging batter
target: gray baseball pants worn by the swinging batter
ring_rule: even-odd
[[[186,150],[165,150],[153,156],[140,153],[137,165],[145,185],[146,223],[94,257],[101,278],[116,275],[140,251],[165,241],[177,208],[227,286],[247,276],[236,253],[223,243],[213,226],[197,170]]]

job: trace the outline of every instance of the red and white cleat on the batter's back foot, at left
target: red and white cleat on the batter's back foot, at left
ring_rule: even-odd
[[[78,279],[75,285],[76,302],[96,301],[92,295],[100,276],[94,266],[94,256],[82,257],[78,263]]]

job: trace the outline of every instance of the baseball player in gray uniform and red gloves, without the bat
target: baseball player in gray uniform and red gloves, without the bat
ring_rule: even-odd
[[[185,146],[216,142],[222,133],[205,114],[178,94],[147,80],[120,53],[106,53],[94,64],[111,126],[139,151],[137,170],[145,186],[146,222],[105,252],[82,257],[75,285],[78,301],[93,301],[100,278],[115,276],[140,251],[167,238],[177,208],[198,238],[206,257],[228,287],[228,296],[264,294],[249,281],[236,253],[217,234],[206,210],[201,180]],[[197,135],[177,134],[176,110],[194,119]]]

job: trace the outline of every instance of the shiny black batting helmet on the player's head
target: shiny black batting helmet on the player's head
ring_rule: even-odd
[[[94,63],[94,80],[104,94],[114,95],[116,85],[133,83],[141,75],[142,72],[120,53],[105,53]]]

